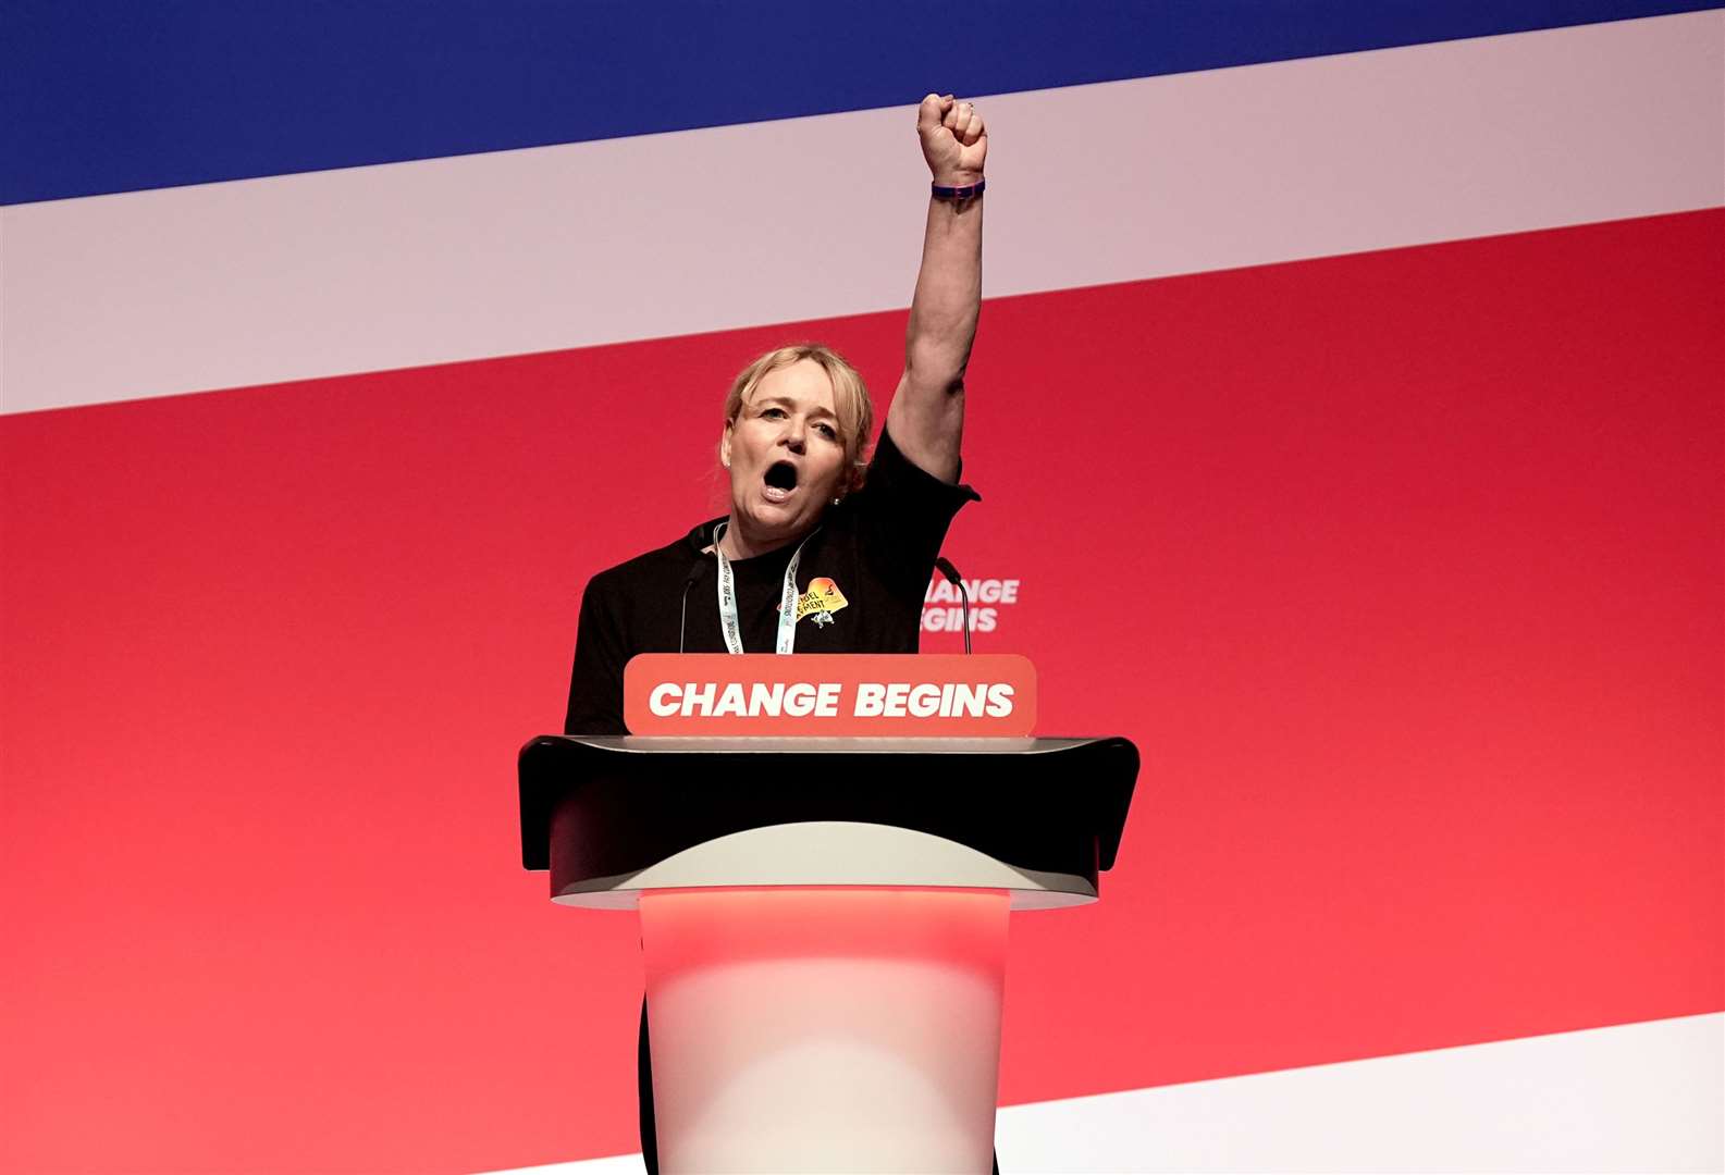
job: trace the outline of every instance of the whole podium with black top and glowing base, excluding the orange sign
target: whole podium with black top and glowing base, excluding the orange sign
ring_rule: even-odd
[[[988,1172],[1013,909],[1097,899],[1125,738],[540,737],[521,858],[638,909],[659,1165]]]

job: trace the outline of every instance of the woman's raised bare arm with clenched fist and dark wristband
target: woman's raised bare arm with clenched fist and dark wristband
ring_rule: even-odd
[[[935,186],[982,183],[988,133],[975,105],[932,93],[916,109],[916,133]],[[928,200],[904,376],[887,411],[887,430],[899,450],[942,481],[957,481],[959,474],[964,368],[982,311],[982,193]]]

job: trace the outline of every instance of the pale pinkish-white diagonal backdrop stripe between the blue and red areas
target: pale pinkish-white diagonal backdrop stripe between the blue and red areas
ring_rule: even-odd
[[[985,293],[1715,207],[1722,90],[1699,12],[983,98]],[[16,205],[0,407],[904,307],[926,179],[906,105]]]

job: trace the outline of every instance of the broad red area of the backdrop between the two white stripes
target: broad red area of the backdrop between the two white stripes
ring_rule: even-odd
[[[985,307],[980,645],[1144,752],[1107,901],[1013,923],[1004,1101],[1722,1006],[1722,255],[1711,210]],[[816,336],[885,393],[902,330],[5,419],[0,1158],[633,1149],[637,928],[519,870],[512,756],[586,576],[718,512],[730,376]]]

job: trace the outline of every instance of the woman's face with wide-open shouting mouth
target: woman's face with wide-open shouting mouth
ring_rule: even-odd
[[[845,471],[833,383],[812,359],[769,371],[724,426],[731,528],[750,554],[814,530]]]

